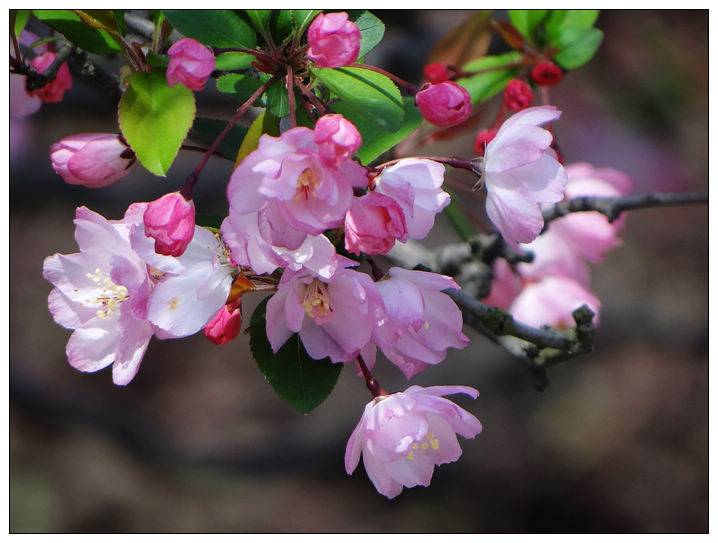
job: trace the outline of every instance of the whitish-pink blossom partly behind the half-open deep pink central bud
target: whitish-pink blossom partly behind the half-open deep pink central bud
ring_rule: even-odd
[[[441,189],[444,166],[433,160],[405,158],[384,168],[374,180],[376,192],[395,200],[404,212],[412,239],[424,239],[434,226],[434,217],[451,200]]]

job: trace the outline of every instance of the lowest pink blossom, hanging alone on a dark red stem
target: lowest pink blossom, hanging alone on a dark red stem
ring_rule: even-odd
[[[429,486],[434,466],[461,456],[456,434],[472,439],[481,432],[474,415],[442,396],[479,392],[467,386],[410,386],[378,396],[364,408],[344,455],[349,475],[364,460],[377,491],[391,499],[404,487]]]

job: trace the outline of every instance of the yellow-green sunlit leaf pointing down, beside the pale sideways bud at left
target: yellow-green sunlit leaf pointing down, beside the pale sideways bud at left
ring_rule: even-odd
[[[165,71],[137,72],[119,106],[120,128],[142,165],[165,176],[195,115],[194,93],[184,85],[169,87]]]

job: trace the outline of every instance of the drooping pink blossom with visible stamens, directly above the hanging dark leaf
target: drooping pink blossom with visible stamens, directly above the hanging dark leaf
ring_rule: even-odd
[[[276,353],[298,333],[312,358],[348,362],[369,343],[383,314],[379,291],[365,273],[339,267],[325,281],[306,271],[285,271],[267,302],[267,338]]]

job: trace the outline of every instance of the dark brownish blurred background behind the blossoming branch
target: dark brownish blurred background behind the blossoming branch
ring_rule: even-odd
[[[416,83],[432,47],[471,15],[374,13],[386,35],[367,62]],[[551,91],[566,162],[626,172],[637,193],[707,190],[708,12],[604,11],[597,26],[596,57]],[[216,90],[199,95],[202,116],[232,111]],[[273,392],[244,335],[154,340],[127,387],[109,369],[69,366],[42,262],[77,251],[75,208],[120,218],[179,188],[200,158],[181,154],[167,178],[137,165],[94,191],[53,172],[53,142],[117,129],[109,101],[79,81],[61,104],[10,123],[12,532],[707,532],[707,206],[630,213],[623,246],[592,268],[595,352],[553,369],[546,391],[467,327],[470,345],[410,384],[478,388],[476,401],[454,399],[484,431],[460,440],[462,458],[430,487],[389,501],[362,466],[344,472],[370,399],[349,368],[305,416]],[[475,133],[422,154],[472,156]],[[200,212],[226,214],[230,173],[210,161]],[[440,217],[427,244],[455,240]],[[261,296],[246,298],[248,318]],[[407,386],[384,359],[376,377]]]

